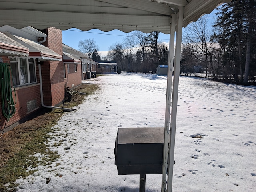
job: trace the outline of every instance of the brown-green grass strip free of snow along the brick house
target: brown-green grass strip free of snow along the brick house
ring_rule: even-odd
[[[75,94],[71,101],[65,102],[62,107],[71,108],[82,103],[87,95],[94,93],[98,88],[95,84],[79,86],[76,91],[86,94]],[[16,191],[17,185],[14,182],[18,178],[26,178],[36,172],[38,164],[49,165],[60,157],[56,151],[48,149],[48,139],[51,138],[48,133],[58,131],[57,127],[52,127],[57,124],[62,114],[62,110],[56,109],[4,133],[0,139],[0,192]],[[61,142],[52,146],[58,145],[61,145]],[[56,166],[58,165],[60,163]]]

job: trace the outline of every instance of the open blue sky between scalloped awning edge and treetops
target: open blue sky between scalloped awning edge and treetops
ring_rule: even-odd
[[[214,10],[211,14],[208,14],[207,16],[210,18],[214,17]],[[212,20],[212,19],[209,19]],[[213,20],[212,20],[213,21]],[[100,31],[99,29],[91,29],[90,31],[81,31],[76,28],[68,29],[66,31],[62,31],[62,39],[63,43],[79,50],[78,48],[78,42],[80,40],[85,39],[94,39],[96,41],[96,44],[98,44],[100,50],[99,53],[101,56],[106,55],[109,51],[109,47],[117,42],[122,42],[122,39],[126,37],[126,35],[131,35],[130,33],[124,33],[119,30],[112,30],[109,32]],[[169,44],[169,34],[163,34],[160,33],[159,40],[161,42],[166,42]]]

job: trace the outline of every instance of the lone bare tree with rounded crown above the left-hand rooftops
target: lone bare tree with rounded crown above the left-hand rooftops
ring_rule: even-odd
[[[91,59],[92,53],[94,53],[95,51],[99,51],[99,46],[96,44],[94,39],[85,39],[84,41],[80,40],[78,43],[78,47],[79,51],[81,51],[82,53],[86,53],[89,59]]]

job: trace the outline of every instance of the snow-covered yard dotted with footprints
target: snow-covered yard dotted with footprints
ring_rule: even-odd
[[[119,176],[114,165],[117,129],[164,127],[166,79],[130,73],[92,81],[100,90],[53,127],[60,130],[50,149],[61,157],[18,179],[18,191],[138,192],[139,176]],[[256,87],[180,77],[175,161],[173,191],[255,191]],[[161,175],[146,175],[146,192],[160,191]]]

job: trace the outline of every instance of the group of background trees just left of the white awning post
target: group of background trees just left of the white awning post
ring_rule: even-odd
[[[159,41],[159,33],[134,31],[110,46],[107,59],[116,60],[122,71],[154,73],[158,65],[168,65],[168,47]]]

